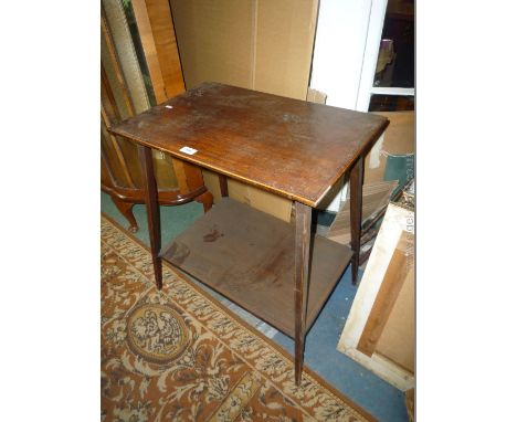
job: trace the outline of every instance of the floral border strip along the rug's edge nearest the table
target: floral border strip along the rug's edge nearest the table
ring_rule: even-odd
[[[147,279],[154,281],[149,249],[104,213],[102,226],[102,241],[116,250],[130,249],[134,256],[131,264]],[[169,291],[181,292],[182,297],[190,298],[189,312],[307,415],[325,421],[376,420],[307,367],[304,368],[302,383],[297,387],[294,360],[286,350],[163,262],[162,292],[168,294]]]

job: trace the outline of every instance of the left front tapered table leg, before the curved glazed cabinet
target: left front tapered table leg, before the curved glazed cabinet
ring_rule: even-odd
[[[141,173],[144,180],[144,196],[146,199],[147,225],[149,228],[152,267],[155,270],[156,287],[161,289],[161,247],[160,208],[158,205],[158,188],[156,186],[155,169],[152,166],[152,151],[149,147],[138,146]]]

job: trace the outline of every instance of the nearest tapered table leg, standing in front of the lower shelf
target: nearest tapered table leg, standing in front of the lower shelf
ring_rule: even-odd
[[[312,209],[295,202],[295,381],[299,386],[306,335]]]

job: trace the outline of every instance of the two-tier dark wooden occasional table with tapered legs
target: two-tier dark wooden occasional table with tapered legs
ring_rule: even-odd
[[[388,123],[207,83],[112,127],[139,147],[157,287],[166,260],[294,338],[299,384],[306,333],[350,261],[357,283],[363,160]],[[219,173],[223,197],[163,249],[151,148]],[[312,208],[344,173],[351,247],[310,233]],[[228,198],[228,177],[292,200],[295,221]]]

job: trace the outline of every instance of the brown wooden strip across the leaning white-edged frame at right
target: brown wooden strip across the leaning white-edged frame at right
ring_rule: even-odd
[[[405,252],[408,251],[408,239],[404,233],[400,235],[397,247],[393,251],[379,293],[357,345],[357,349],[367,356],[371,356],[376,350],[377,342],[388,321],[391,309],[393,309],[408,273],[409,260]]]

